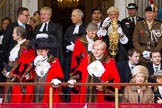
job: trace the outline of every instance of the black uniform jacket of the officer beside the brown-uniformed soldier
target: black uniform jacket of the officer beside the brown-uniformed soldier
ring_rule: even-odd
[[[138,21],[142,21],[144,20],[143,18],[141,17],[136,17],[136,20],[137,22]],[[133,32],[134,32],[134,29],[135,29],[135,24],[133,24],[131,22],[131,19],[130,17],[127,17],[125,19],[123,19],[121,21],[121,26],[122,26],[122,30],[123,30],[123,33],[128,37],[129,41],[128,43],[125,45],[126,49],[129,50],[131,48],[133,48],[133,42],[132,42],[132,37],[133,37]]]

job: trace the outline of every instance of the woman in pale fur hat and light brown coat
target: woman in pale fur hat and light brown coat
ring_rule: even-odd
[[[147,83],[148,77],[148,69],[145,66],[138,65],[132,70],[130,83]],[[122,101],[124,103],[153,103],[154,93],[148,86],[126,86]]]

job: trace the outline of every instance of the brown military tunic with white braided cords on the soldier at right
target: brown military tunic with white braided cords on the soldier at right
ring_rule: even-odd
[[[133,34],[133,45],[142,54],[143,51],[161,50],[162,48],[162,24],[157,21],[153,21],[152,27],[149,29],[146,21],[137,22]],[[146,60],[143,57],[140,59],[141,63],[149,63],[150,60]]]

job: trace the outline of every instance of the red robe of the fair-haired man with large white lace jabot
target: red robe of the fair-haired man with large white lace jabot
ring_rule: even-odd
[[[79,83],[88,83],[87,79],[89,77],[87,66],[89,65],[89,58],[83,59],[82,63],[79,65],[79,67],[76,69],[76,71],[73,73],[75,75],[79,75]],[[102,76],[99,78],[102,82],[107,82],[113,80],[113,83],[120,83],[120,77],[116,68],[115,60],[114,59],[109,59],[106,62],[102,62],[102,65],[105,68],[105,72],[102,74]],[[79,73],[79,74],[78,74]],[[81,74],[81,75],[80,75]],[[72,79],[73,79],[72,78]],[[115,88],[113,86],[113,88]],[[118,87],[120,88],[120,87]],[[86,102],[86,96],[87,96],[87,86],[81,86],[79,89],[78,94],[71,94],[71,102],[73,103],[85,103]],[[104,102],[109,102],[105,100],[105,91],[98,91],[97,90],[97,95],[96,95],[96,101],[97,103],[104,103]],[[91,96],[91,95],[88,95]]]

